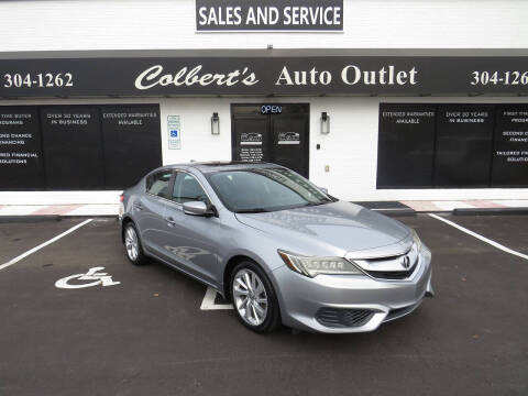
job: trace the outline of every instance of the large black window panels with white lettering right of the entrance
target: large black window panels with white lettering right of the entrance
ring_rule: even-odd
[[[526,187],[528,107],[381,103],[377,187]]]

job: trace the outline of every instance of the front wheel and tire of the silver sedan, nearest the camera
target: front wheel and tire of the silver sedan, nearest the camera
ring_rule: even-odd
[[[230,294],[234,312],[248,329],[265,333],[280,326],[280,310],[273,285],[255,263],[244,261],[234,267],[231,273]]]

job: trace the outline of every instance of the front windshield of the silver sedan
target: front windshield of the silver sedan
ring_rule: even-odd
[[[332,202],[302,176],[285,168],[222,170],[209,182],[226,207],[234,212],[266,212]]]

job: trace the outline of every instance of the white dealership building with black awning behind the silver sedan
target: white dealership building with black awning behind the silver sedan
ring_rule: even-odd
[[[0,2],[0,205],[273,162],[348,200],[528,199],[528,2]]]

